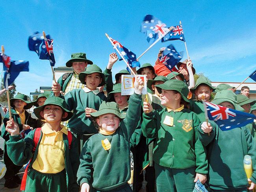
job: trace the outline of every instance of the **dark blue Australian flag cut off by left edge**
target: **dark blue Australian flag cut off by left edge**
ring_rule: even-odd
[[[28,61],[12,61],[10,57],[5,54],[0,55],[0,63],[4,64],[4,87],[8,90],[11,85],[22,71],[29,71]]]

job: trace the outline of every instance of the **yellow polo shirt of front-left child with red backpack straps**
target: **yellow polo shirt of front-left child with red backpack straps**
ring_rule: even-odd
[[[32,168],[41,173],[59,173],[65,169],[63,133],[67,135],[68,131],[65,126],[61,125],[61,130],[56,132],[45,124],[42,127],[42,132],[42,140]]]

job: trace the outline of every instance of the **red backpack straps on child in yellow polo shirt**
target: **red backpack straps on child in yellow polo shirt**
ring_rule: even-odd
[[[34,138],[33,138],[35,146],[33,147],[33,150],[32,150],[33,153],[35,153],[35,149],[37,147],[37,144],[39,142],[40,137],[41,137],[41,127],[35,129]],[[70,131],[68,131],[67,137],[68,137],[69,149],[70,149],[71,142],[72,142],[72,133]],[[29,167],[30,162],[32,161],[32,159],[33,159],[33,157],[30,159],[30,161],[26,165],[26,169],[25,169],[24,175],[22,177],[21,185],[20,185],[20,190],[25,190],[25,188],[26,188],[26,181],[27,181],[27,176],[28,176],[28,167]]]

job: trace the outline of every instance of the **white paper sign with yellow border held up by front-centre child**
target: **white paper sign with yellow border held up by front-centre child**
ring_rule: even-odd
[[[144,82],[142,94],[147,94],[147,83],[145,75],[138,75]],[[132,95],[134,93],[134,75],[122,75],[121,95]]]

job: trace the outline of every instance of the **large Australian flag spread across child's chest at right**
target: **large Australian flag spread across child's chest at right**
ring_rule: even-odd
[[[205,103],[208,118],[215,121],[222,131],[246,126],[256,118],[254,114],[236,111],[210,102]]]

